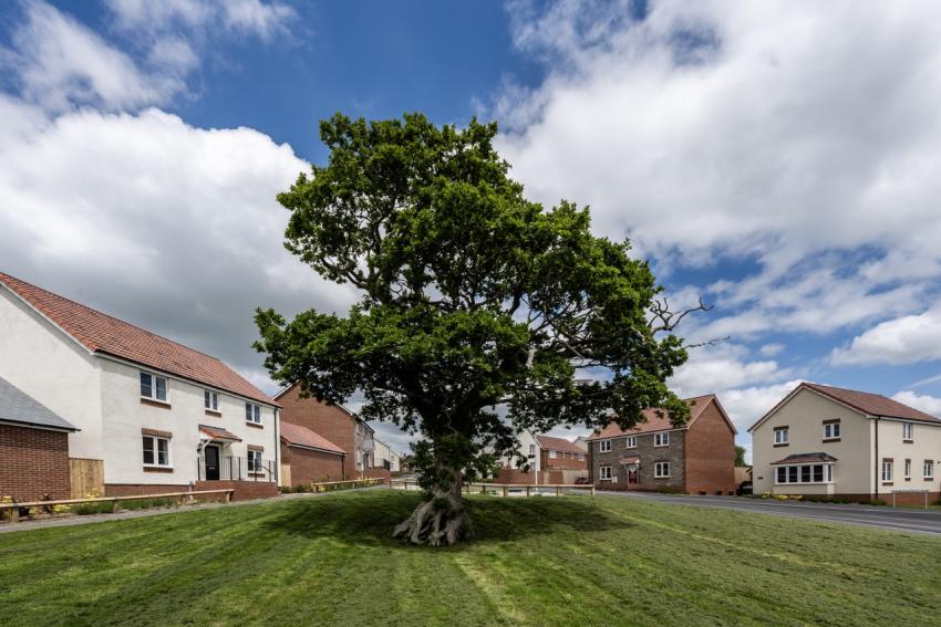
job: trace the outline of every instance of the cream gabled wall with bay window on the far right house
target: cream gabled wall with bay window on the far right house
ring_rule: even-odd
[[[840,420],[840,441],[824,442],[824,420]],[[788,426],[789,443],[774,446],[774,428]],[[870,494],[871,425],[862,414],[809,389],[794,395],[752,431],[753,489],[756,494]],[[900,431],[901,432],[901,431]],[[792,454],[826,452],[835,458],[834,485],[775,485],[772,462]]]

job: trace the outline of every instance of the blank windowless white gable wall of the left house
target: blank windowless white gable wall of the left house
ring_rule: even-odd
[[[81,429],[69,456],[103,459],[95,357],[0,285],[0,376]]]

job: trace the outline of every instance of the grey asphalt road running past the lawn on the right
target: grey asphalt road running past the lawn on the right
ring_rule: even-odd
[[[743,512],[814,519],[828,522],[870,526],[887,531],[904,531],[941,536],[941,510],[892,509],[873,505],[837,505],[798,501],[771,501],[741,497],[685,497],[650,492],[598,492],[609,497],[641,499],[672,505],[721,508]]]

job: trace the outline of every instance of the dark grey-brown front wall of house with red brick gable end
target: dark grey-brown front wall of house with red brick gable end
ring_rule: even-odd
[[[658,490],[670,488],[685,492],[683,463],[685,458],[685,431],[670,431],[670,446],[654,447],[653,433],[640,433],[637,436],[638,446],[628,448],[624,436],[611,439],[611,451],[600,452],[599,442],[591,442],[591,481],[602,490]],[[638,468],[638,482],[628,488],[628,468],[621,463],[621,458],[635,457],[640,459]],[[654,478],[654,463],[658,461],[670,462],[670,477]],[[611,476],[617,481],[601,481],[600,468],[611,467]]]

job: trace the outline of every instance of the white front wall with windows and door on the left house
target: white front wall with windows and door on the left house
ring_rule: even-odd
[[[229,393],[219,394],[220,418],[207,416],[203,386],[167,378],[167,400],[170,408],[152,407],[141,403],[141,370],[146,368],[101,358],[102,408],[105,428],[105,483],[186,484],[198,479],[199,425],[221,427],[241,442],[223,449],[223,456],[247,457],[248,445],[261,446],[263,460],[276,459],[275,410],[261,406],[262,429],[245,421],[245,399]],[[173,472],[145,472],[141,429],[170,431],[170,464]],[[242,462],[245,463],[245,462]]]

